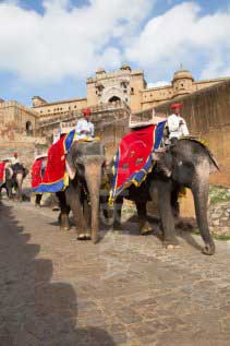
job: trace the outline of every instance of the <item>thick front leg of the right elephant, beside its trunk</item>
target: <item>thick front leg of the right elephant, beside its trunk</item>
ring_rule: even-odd
[[[175,237],[174,218],[171,207],[171,183],[168,181],[155,181],[158,189],[158,208],[161,219],[164,244],[166,247],[177,246],[179,241]],[[153,191],[150,191],[153,195]]]

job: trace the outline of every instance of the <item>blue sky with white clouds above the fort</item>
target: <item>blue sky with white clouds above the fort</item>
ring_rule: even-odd
[[[84,97],[95,70],[126,62],[149,85],[180,63],[230,75],[230,0],[0,0],[0,98]]]

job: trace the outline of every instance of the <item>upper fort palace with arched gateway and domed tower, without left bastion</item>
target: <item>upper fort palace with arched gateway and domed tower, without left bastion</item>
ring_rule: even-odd
[[[148,87],[142,70],[132,70],[123,64],[120,70],[106,72],[98,69],[94,76],[86,80],[86,98],[75,98],[48,103],[39,96],[33,97],[33,109],[40,118],[51,118],[66,111],[81,110],[109,103],[125,103],[131,112],[141,111],[174,98],[223,82],[228,77],[195,81],[192,73],[180,68],[170,84]]]

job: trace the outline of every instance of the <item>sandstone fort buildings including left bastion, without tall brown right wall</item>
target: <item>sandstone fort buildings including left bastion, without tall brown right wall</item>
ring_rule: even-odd
[[[44,135],[46,130],[53,130],[61,121],[74,122],[85,107],[90,107],[96,118],[102,114],[118,114],[120,118],[122,109],[124,115],[143,111],[226,80],[228,77],[195,81],[190,71],[180,68],[170,84],[148,87],[142,70],[132,70],[128,64],[113,72],[100,68],[86,80],[85,98],[48,102],[34,96],[32,107],[0,99],[0,133],[14,128],[16,133],[27,136]]]

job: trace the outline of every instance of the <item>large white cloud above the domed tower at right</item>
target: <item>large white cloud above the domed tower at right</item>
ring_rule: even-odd
[[[178,4],[149,20],[125,56],[147,69],[152,79],[170,77],[181,62],[202,69],[203,77],[223,75],[229,71],[230,12],[202,15],[195,2]]]

